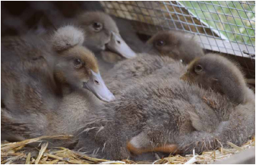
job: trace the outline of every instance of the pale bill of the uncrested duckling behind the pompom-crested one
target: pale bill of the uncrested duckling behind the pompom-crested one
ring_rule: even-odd
[[[112,32],[110,42],[106,45],[112,51],[122,55],[124,58],[135,58],[136,53],[125,43],[122,37]]]

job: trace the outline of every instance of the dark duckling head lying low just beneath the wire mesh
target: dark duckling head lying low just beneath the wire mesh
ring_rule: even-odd
[[[169,56],[185,64],[204,54],[197,42],[176,31],[156,33],[147,41],[147,47],[150,53]]]

